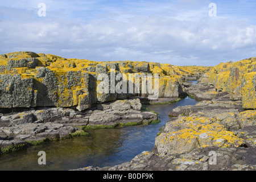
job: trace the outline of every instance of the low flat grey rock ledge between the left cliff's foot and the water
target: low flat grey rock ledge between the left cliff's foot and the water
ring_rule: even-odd
[[[0,153],[20,150],[49,140],[88,135],[87,129],[148,125],[159,122],[155,113],[141,111],[138,98],[97,104],[79,111],[62,107],[31,108],[0,118]]]

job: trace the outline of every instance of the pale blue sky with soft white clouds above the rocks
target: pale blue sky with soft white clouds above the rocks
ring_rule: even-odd
[[[0,54],[214,66],[256,57],[255,9],[254,0],[1,0]]]

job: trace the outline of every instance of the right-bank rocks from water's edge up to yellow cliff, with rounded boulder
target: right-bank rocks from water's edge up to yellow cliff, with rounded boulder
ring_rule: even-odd
[[[189,87],[188,94],[200,102],[171,110],[151,151],[113,167],[74,170],[254,171],[256,111],[243,109],[242,101],[230,100],[228,93],[214,91],[206,83]]]

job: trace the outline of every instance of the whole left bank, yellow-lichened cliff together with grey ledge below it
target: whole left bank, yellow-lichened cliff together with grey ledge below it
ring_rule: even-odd
[[[176,102],[185,95],[183,81],[199,78],[209,69],[146,61],[65,59],[30,51],[2,54],[0,154],[86,135],[86,129],[159,122],[156,114],[142,111],[141,101],[134,98],[151,96],[152,85],[145,93],[130,93],[129,89],[135,90],[137,83],[142,89],[142,77],[156,74],[159,86],[153,90],[159,100],[150,103]],[[137,77],[130,80],[129,74]],[[118,77],[129,78],[129,82]],[[122,92],[113,93],[112,87],[118,85]],[[100,92],[105,86],[106,92]]]

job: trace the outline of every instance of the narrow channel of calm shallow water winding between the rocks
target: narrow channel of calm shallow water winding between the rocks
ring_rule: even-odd
[[[115,166],[129,162],[143,151],[151,151],[159,129],[169,120],[168,113],[177,106],[195,105],[191,98],[170,105],[148,105],[159,114],[160,123],[88,130],[89,136],[52,141],[0,155],[0,170],[68,170],[88,166]],[[38,152],[46,152],[46,165],[38,164]]]

